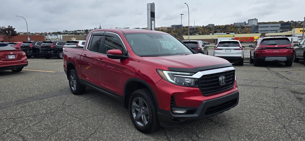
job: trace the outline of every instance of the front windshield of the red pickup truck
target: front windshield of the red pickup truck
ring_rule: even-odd
[[[137,56],[171,56],[193,54],[189,48],[170,34],[161,33],[127,33],[132,51]]]

